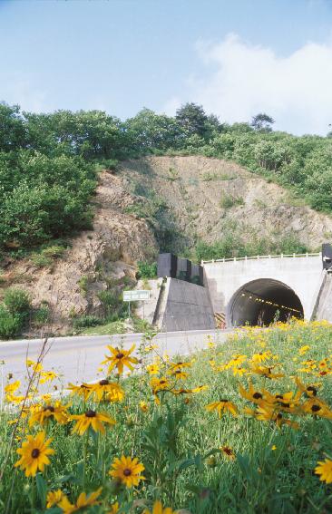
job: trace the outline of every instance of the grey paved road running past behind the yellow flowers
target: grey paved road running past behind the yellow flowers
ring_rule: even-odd
[[[170,356],[190,354],[207,344],[207,335],[212,335],[215,342],[223,342],[229,330],[194,330],[190,332],[160,333],[155,337],[159,346],[159,354],[166,352]],[[54,385],[59,390],[68,382],[92,382],[103,375],[98,371],[104,355],[109,353],[107,344],[120,345],[128,349],[132,344],[139,346],[142,334],[126,335],[92,335],[54,337],[47,342],[47,354],[44,356],[44,369],[60,374],[60,379],[54,383],[41,385],[43,393],[53,392]],[[13,373],[14,379],[26,383],[26,359],[36,360],[40,354],[43,342],[41,339],[0,342],[0,398],[4,396],[4,385],[8,373]],[[21,391],[24,392],[23,390]]]

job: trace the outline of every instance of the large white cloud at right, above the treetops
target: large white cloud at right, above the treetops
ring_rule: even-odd
[[[286,57],[248,44],[236,34],[221,43],[197,44],[204,77],[190,79],[189,100],[221,121],[249,121],[258,112],[275,128],[326,134],[332,123],[332,44],[308,43]],[[187,102],[188,98],[181,99]],[[179,103],[172,98],[171,104]]]

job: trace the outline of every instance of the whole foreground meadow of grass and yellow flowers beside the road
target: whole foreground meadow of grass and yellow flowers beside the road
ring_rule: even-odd
[[[108,346],[103,379],[77,385],[28,359],[28,390],[5,385],[0,510],[330,512],[331,335],[246,328],[170,359],[151,334],[136,355]]]

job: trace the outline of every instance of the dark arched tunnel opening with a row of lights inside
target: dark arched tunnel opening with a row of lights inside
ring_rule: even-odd
[[[231,297],[227,325],[270,325],[276,319],[303,318],[303,306],[296,293],[283,282],[259,278],[240,287]]]

